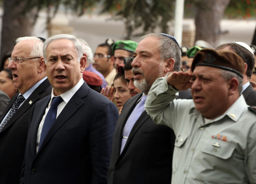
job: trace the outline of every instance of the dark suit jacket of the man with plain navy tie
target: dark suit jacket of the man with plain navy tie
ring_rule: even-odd
[[[118,109],[86,83],[68,101],[36,153],[51,95],[32,109],[20,183],[106,183]]]

